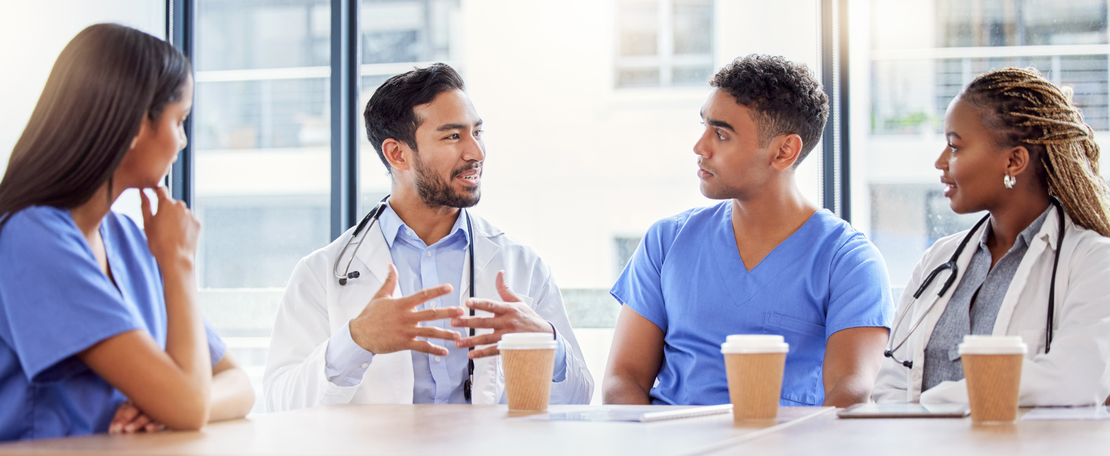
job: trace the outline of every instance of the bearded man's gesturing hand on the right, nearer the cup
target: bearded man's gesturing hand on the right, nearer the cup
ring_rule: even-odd
[[[501,336],[511,333],[548,333],[554,335],[552,325],[547,323],[536,311],[528,307],[516,293],[513,293],[505,284],[505,271],[497,273],[497,294],[505,302],[471,298],[466,300],[466,306],[494,314],[493,317],[454,317],[451,325],[455,327],[490,327],[493,334],[482,334],[474,337],[466,337],[455,341],[457,347],[473,347],[486,344],[496,344]],[[471,358],[493,356],[501,354],[497,346],[485,347],[470,352]]]

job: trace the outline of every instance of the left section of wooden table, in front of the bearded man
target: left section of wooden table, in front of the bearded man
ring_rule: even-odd
[[[553,406],[552,412],[596,408]],[[733,447],[831,411],[784,407],[778,423],[736,425],[731,414],[658,423],[541,422],[511,417],[504,405],[339,405],[258,415],[195,433],[11,443],[0,445],[0,454],[686,455]]]

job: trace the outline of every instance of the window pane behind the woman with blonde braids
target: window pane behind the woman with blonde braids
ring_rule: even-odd
[[[852,2],[857,77],[852,135],[857,225],[868,229],[904,285],[937,239],[970,227],[941,194],[934,161],[945,146],[941,122],[971,80],[1006,67],[1033,67],[1074,90],[1100,140],[1108,123],[1106,0],[868,0]],[[862,188],[862,189],[861,189]]]

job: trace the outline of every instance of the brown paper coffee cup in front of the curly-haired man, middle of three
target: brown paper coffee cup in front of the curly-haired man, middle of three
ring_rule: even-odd
[[[790,346],[779,335],[730,335],[720,344],[733,419],[775,419]]]

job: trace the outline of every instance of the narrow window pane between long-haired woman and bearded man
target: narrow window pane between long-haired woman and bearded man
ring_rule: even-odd
[[[195,201],[204,312],[261,394],[293,266],[331,242],[327,0],[198,0]],[[261,411],[262,401],[256,403]]]

